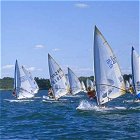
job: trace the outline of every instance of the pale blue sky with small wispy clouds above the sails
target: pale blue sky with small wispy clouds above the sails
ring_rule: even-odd
[[[138,1],[2,1],[1,77],[13,77],[17,59],[33,76],[49,78],[48,53],[65,73],[91,76],[97,26],[121,71],[131,73],[131,47],[139,52]]]

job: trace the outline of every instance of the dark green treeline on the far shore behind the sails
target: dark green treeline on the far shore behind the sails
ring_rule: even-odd
[[[79,77],[80,81],[83,81],[86,84],[86,79],[89,78],[90,80],[94,80],[94,76],[90,77]],[[129,74],[124,74],[123,75],[124,80],[128,80],[129,78],[132,78],[132,75]],[[49,89],[51,87],[49,79],[44,79],[44,78],[38,78],[35,77],[35,81],[37,82],[39,89],[44,90],[44,89]],[[4,77],[3,79],[0,79],[0,89],[2,90],[12,90],[14,86],[14,79],[10,77]]]

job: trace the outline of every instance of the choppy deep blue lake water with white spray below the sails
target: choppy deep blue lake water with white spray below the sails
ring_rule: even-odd
[[[17,101],[11,91],[1,91],[2,140],[140,139],[140,103],[133,103],[130,94],[112,100],[106,109],[90,106],[84,93],[43,102],[46,94],[42,90],[34,99]]]

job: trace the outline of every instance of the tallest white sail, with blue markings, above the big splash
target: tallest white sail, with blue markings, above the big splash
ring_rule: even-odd
[[[116,57],[96,26],[94,31],[94,72],[98,105],[124,94],[125,84]]]

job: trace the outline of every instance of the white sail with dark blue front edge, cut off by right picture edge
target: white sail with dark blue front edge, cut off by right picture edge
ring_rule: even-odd
[[[140,56],[132,47],[132,55],[131,55],[131,63],[132,63],[132,81],[134,92],[136,95],[140,96]]]

